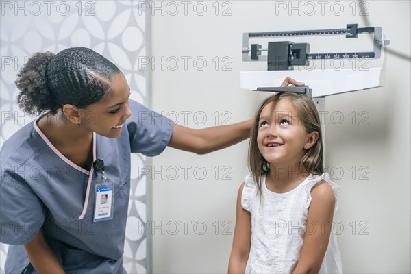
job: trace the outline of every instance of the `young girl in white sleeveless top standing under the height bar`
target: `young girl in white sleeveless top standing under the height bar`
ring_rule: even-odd
[[[341,273],[338,186],[323,173],[319,114],[305,95],[278,93],[251,129],[249,168],[238,190],[229,273]]]

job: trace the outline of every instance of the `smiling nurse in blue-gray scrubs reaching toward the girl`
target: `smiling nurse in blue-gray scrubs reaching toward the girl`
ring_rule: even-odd
[[[0,153],[6,273],[125,273],[130,153],[203,154],[249,137],[251,121],[174,125],[129,99],[123,73],[84,47],[36,53],[17,76],[18,105],[42,115]]]

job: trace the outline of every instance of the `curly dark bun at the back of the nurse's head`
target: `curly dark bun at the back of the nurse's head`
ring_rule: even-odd
[[[40,114],[51,110],[56,105],[53,93],[47,86],[46,70],[54,53],[36,53],[17,74],[16,86],[21,92],[17,103],[22,110],[29,114]]]

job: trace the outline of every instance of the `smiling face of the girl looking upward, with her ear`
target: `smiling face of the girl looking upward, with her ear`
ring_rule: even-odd
[[[257,142],[262,157],[270,166],[298,169],[304,151],[312,147],[318,133],[308,134],[298,112],[288,99],[268,103],[258,121]]]

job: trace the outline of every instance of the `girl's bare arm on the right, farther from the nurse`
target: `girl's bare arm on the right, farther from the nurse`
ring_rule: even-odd
[[[311,197],[307,232],[293,273],[319,273],[328,247],[335,206],[334,192],[327,182],[320,182],[312,188]]]

